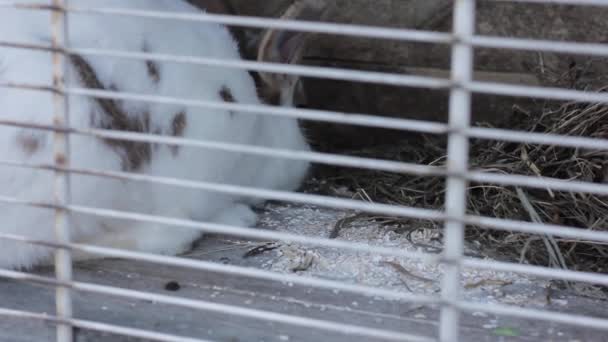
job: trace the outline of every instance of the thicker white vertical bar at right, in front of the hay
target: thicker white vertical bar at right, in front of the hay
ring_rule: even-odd
[[[469,42],[475,31],[475,0],[454,1],[455,37],[452,46],[448,160],[445,210],[448,220],[444,225],[445,270],[441,283],[439,340],[455,342],[459,338],[460,311],[453,304],[460,299],[460,262],[464,250],[464,217],[467,208],[469,138],[466,131],[471,121],[471,92],[464,85],[473,77],[473,47]]]

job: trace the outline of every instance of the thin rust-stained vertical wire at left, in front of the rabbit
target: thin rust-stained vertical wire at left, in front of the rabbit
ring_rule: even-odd
[[[53,0],[54,10],[51,12],[52,44],[56,50],[53,52],[53,124],[56,127],[69,125],[69,104],[65,89],[65,72],[67,58],[63,53],[68,39],[67,14],[65,6],[67,0]],[[62,131],[53,132],[53,160],[55,166],[67,168],[69,166],[69,137]],[[53,194],[55,208],[55,238],[59,243],[70,242],[69,213],[65,207],[70,202],[70,175],[68,172],[54,171]],[[72,256],[65,248],[55,251],[55,276],[60,282],[72,280]],[[72,295],[66,286],[57,286],[55,290],[55,305],[57,317],[63,321],[57,325],[57,342],[72,342],[72,326],[66,322],[72,318]]]

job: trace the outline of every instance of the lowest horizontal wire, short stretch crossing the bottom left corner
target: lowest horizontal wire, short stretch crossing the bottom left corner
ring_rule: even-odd
[[[106,324],[101,322],[93,322],[81,319],[63,319],[57,316],[35,313],[29,311],[20,311],[0,308],[0,316],[14,317],[19,319],[39,320],[44,322],[50,322],[54,324],[67,324],[73,327],[81,329],[95,330],[99,332],[117,334],[128,337],[135,337],[140,339],[146,339],[151,341],[162,341],[162,342],[212,342],[211,340],[202,340],[189,337],[181,337],[176,335],[163,334],[150,330],[142,330],[135,328],[128,328],[118,325]]]

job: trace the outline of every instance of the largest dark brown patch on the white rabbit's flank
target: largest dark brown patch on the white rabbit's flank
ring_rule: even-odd
[[[87,61],[78,55],[70,57],[81,82],[91,89],[105,89],[103,84],[97,78],[95,70],[87,63]],[[114,89],[116,87],[114,86]],[[93,127],[116,130],[129,131],[137,133],[150,132],[150,114],[140,113],[130,117],[125,113],[119,104],[112,99],[96,98],[95,102],[101,109],[101,120],[93,120],[91,116],[91,124]],[[139,170],[144,164],[150,162],[152,154],[152,145],[147,142],[125,141],[116,139],[103,139],[104,142],[114,148],[120,155],[123,171]]]

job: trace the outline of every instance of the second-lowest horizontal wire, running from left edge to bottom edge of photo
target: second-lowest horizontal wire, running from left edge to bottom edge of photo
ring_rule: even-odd
[[[216,313],[221,313],[224,315],[235,315],[239,317],[245,317],[255,320],[260,320],[264,322],[274,322],[274,323],[282,323],[293,326],[305,327],[305,328],[314,328],[325,331],[331,331],[335,333],[340,333],[344,335],[356,335],[356,336],[367,336],[380,338],[384,340],[391,341],[435,341],[432,338],[410,335],[406,333],[400,333],[391,330],[382,330],[376,328],[368,328],[363,326],[337,323],[337,322],[328,322],[313,318],[307,318],[302,316],[288,315],[282,314],[272,311],[264,311],[258,309],[250,309],[236,305],[228,305],[221,303],[214,303],[204,300],[194,300],[188,298],[179,298],[173,296],[167,296],[152,292],[145,292],[139,290],[130,290],[123,289],[113,286],[99,285],[93,283],[85,283],[85,282],[60,282],[54,278],[48,278],[43,276],[38,276],[30,273],[18,272],[18,271],[9,271],[0,269],[0,277],[15,279],[21,281],[29,281],[34,283],[53,285],[53,286],[66,286],[72,290],[88,292],[88,293],[96,293],[96,294],[105,294],[109,296],[129,298],[129,299],[139,299],[146,301],[154,301],[157,303],[175,305],[180,307],[185,307],[189,309],[201,310],[201,311],[211,311]]]

